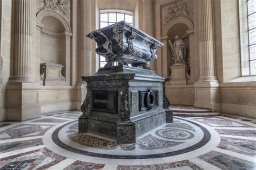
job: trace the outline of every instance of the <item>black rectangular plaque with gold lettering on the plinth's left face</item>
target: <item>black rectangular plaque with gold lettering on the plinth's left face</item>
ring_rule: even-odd
[[[117,91],[92,91],[92,110],[117,114]]]

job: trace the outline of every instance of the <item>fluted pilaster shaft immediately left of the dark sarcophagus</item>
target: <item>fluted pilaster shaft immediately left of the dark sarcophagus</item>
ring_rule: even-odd
[[[92,45],[86,35],[91,30],[91,0],[80,0],[80,74],[79,76],[91,75]]]

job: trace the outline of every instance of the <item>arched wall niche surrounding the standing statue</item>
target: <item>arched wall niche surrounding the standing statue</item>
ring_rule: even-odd
[[[169,23],[167,23],[162,32],[161,32],[161,42],[164,43],[164,47],[161,51],[161,56],[163,57],[163,67],[162,67],[162,73],[163,76],[169,77],[170,72],[170,66],[174,64],[174,61],[172,59],[171,55],[171,48],[169,45],[169,40],[172,42],[174,41],[174,37],[176,35],[179,35],[179,37],[185,42],[187,46],[187,53],[186,53],[186,59],[188,63],[190,64],[190,68],[194,66],[193,59],[194,57],[194,26],[190,19],[179,17],[171,20]],[[192,72],[191,72],[192,73]],[[193,83],[193,76],[190,77],[190,80],[187,81],[188,84]]]

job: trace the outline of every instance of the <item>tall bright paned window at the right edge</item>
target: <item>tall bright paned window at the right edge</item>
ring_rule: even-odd
[[[256,75],[256,0],[247,0],[248,53],[250,75]]]

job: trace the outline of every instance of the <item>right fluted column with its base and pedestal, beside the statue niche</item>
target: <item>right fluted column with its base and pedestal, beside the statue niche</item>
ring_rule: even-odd
[[[199,0],[200,77],[194,84],[194,107],[220,111],[220,89],[215,76],[213,0]]]

